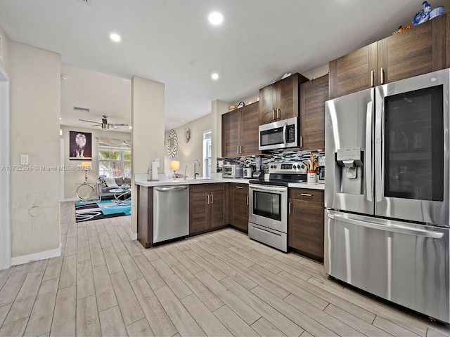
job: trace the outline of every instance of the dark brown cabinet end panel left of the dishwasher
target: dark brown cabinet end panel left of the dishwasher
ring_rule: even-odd
[[[145,248],[153,243],[153,187],[138,185],[138,241]]]

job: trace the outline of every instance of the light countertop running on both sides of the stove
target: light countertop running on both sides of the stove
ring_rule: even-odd
[[[179,179],[167,179],[163,175],[160,175],[160,180],[147,180],[146,174],[136,174],[134,177],[134,183],[143,187],[153,186],[167,186],[167,185],[198,185],[198,184],[212,184],[212,183],[238,183],[248,184],[251,179],[244,178],[179,178]],[[313,190],[325,190],[324,184],[314,183],[290,183],[288,187],[294,188],[309,188]]]

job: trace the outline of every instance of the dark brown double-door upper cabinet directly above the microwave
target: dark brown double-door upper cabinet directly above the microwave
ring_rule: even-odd
[[[259,125],[298,116],[300,84],[308,81],[295,73],[259,89]]]

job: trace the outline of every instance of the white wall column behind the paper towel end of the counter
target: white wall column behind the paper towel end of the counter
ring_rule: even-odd
[[[134,176],[147,173],[150,162],[160,159],[158,173],[164,173],[165,85],[134,76],[131,79],[131,195],[137,195]],[[131,198],[131,234],[137,233],[137,198]]]

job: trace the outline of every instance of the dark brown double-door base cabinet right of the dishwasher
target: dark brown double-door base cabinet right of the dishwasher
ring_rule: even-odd
[[[226,184],[189,187],[189,235],[226,225]]]

